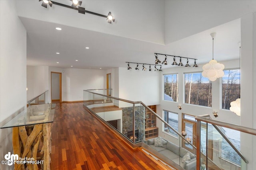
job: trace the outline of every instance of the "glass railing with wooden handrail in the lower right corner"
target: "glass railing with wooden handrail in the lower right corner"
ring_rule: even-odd
[[[246,170],[248,158],[242,154],[256,152],[254,146],[242,145],[248,139],[253,139],[256,129],[210,119],[209,115],[197,116],[197,147],[203,154],[198,157],[198,167],[201,170]],[[244,138],[247,136],[248,138]],[[250,143],[250,142],[249,142]],[[249,147],[249,148],[247,148]],[[252,149],[250,149],[252,147]],[[252,155],[252,154],[248,154]],[[249,156],[250,158],[251,156]],[[251,162],[252,163],[252,162]],[[250,168],[249,168],[250,169]]]

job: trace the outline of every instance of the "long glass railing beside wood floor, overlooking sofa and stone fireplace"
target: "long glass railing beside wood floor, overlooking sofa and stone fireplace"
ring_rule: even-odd
[[[196,146],[192,145],[196,137],[182,136],[143,102],[108,96],[109,90],[84,90],[84,107],[130,143],[146,144],[148,150],[170,165],[175,163],[179,168],[196,169]]]

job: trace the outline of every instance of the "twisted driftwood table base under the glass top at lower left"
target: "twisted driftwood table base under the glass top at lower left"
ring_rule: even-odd
[[[24,161],[14,164],[15,170],[50,170],[51,127],[51,123],[13,127],[13,151]]]

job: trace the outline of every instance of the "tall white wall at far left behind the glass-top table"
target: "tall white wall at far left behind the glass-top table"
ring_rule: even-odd
[[[0,124],[26,108],[26,30],[14,1],[0,1]],[[9,118],[8,118],[9,117]],[[12,129],[0,129],[0,160],[12,150]],[[0,169],[13,169],[0,164]]]

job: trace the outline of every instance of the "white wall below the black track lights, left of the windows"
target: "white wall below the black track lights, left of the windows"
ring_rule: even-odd
[[[119,98],[134,102],[142,101],[147,106],[159,104],[159,71],[119,68],[118,76]]]

